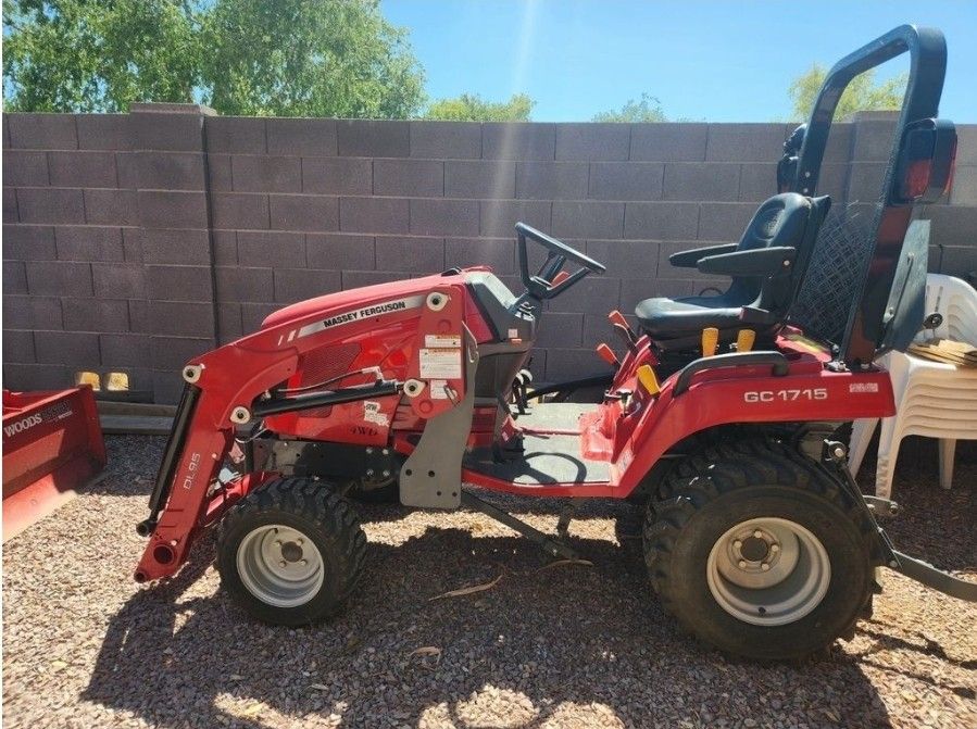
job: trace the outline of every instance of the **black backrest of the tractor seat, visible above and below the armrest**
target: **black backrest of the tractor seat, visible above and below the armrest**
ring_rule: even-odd
[[[810,213],[810,198],[797,192],[775,194],[753,213],[736,250],[750,251],[775,246],[798,248],[804,240]],[[761,277],[738,276],[732,279],[723,297],[734,305],[761,305],[764,288],[764,279]],[[779,300],[779,296],[775,296]]]

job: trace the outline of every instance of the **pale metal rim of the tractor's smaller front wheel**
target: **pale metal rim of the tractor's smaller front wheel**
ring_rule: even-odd
[[[297,607],[312,600],[325,573],[313,541],[281,524],[248,532],[238,546],[237,568],[248,591],[276,607]]]

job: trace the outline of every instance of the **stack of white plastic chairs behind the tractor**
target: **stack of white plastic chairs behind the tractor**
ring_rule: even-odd
[[[977,291],[952,276],[926,277],[926,314],[938,312],[943,322],[936,330],[917,337],[953,339],[977,345]],[[977,440],[977,369],[931,362],[902,352],[879,359],[889,370],[895,394],[895,415],[881,419],[876,495],[889,499],[899,444],[906,436],[940,440],[940,486],[953,481],[953,456],[957,440]],[[878,418],[855,420],[849,452],[849,469],[859,473]]]

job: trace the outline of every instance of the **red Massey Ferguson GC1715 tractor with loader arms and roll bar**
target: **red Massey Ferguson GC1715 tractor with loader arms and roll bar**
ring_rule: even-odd
[[[835,106],[854,76],[903,52],[911,74],[884,189],[859,235],[826,235],[830,199],[815,190]],[[223,585],[250,614],[322,620],[363,570],[347,497],[393,490],[408,506],[483,511],[564,557],[578,500],[640,498],[663,605],[755,658],[850,634],[878,567],[977,599],[977,585],[893,549],[874,512],[894,505],[862,495],[839,435],[895,412],[873,362],[923,320],[927,228],[914,213],[945,192],[956,144],[937,116],[944,68],[943,36],[912,26],[842,59],[786,146],[781,192],[742,240],[673,257],[730,276],[729,289],[643,301],[635,328],[611,314],[622,348],[599,348],[614,368],[589,380],[605,387],[600,402],[543,401],[525,385],[544,302],[604,266],[522,224],[517,294],[487,267],[453,268],[297,303],[195,359],[139,525],[149,543],[136,580],[176,573],[216,526]],[[535,274],[530,243],[544,254]],[[844,316],[809,323],[804,310],[829,299]],[[463,485],[568,507],[547,536]]]

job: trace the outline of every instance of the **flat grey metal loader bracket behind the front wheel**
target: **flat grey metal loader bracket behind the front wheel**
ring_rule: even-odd
[[[417,447],[400,469],[400,501],[405,506],[458,508],[461,504],[462,458],[472,430],[478,367],[478,345],[467,327],[464,344],[465,397],[425,423]]]

